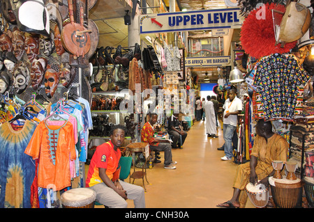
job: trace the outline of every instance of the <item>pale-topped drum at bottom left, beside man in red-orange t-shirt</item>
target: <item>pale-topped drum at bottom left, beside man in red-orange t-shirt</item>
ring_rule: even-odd
[[[61,194],[64,208],[94,208],[96,192],[89,188],[70,189]]]

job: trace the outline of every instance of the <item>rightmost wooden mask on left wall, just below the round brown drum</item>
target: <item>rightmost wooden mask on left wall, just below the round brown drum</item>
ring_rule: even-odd
[[[60,74],[60,84],[62,86],[68,88],[70,84],[73,82],[75,77],[75,68],[71,68],[68,63],[69,61],[69,54],[63,53],[61,55],[61,74]]]

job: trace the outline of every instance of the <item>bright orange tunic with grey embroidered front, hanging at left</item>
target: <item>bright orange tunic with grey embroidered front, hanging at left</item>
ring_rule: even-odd
[[[38,187],[60,190],[70,187],[70,160],[76,159],[73,125],[47,125],[45,120],[36,127],[24,151],[39,158]]]

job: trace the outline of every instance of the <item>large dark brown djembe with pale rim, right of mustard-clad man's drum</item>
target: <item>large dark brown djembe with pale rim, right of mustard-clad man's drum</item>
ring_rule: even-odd
[[[269,177],[271,195],[278,208],[299,208],[302,205],[303,184],[299,178],[296,180],[276,179]]]

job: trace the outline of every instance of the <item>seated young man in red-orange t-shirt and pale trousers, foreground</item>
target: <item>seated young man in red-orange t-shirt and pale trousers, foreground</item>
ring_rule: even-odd
[[[115,125],[110,132],[110,141],[98,145],[91,158],[87,173],[86,187],[96,191],[96,200],[107,207],[126,208],[129,198],[134,201],[135,208],[145,207],[144,189],[140,186],[119,181],[119,160],[124,144],[126,129]]]

